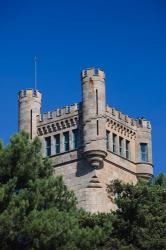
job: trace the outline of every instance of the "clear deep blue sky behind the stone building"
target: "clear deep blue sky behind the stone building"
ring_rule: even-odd
[[[80,71],[107,76],[107,103],[153,126],[155,174],[166,172],[166,1],[0,1],[0,137],[17,132],[17,92],[38,88],[43,111],[81,99]]]

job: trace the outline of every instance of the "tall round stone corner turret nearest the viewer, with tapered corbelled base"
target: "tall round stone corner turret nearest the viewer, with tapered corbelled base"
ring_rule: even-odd
[[[83,70],[81,78],[84,156],[92,167],[101,168],[107,155],[105,74],[91,68]]]

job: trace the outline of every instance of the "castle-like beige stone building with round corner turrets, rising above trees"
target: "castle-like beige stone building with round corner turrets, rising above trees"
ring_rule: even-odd
[[[106,105],[105,74],[81,73],[82,100],[41,114],[41,93],[19,92],[19,129],[38,136],[43,156],[52,159],[80,207],[91,212],[115,209],[106,189],[111,180],[136,183],[153,175],[151,125]]]

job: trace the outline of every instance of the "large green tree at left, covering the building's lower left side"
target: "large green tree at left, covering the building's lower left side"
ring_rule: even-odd
[[[102,249],[111,215],[77,209],[73,192],[22,132],[0,144],[0,249]]]

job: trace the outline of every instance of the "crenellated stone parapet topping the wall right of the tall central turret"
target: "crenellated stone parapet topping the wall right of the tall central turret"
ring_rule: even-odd
[[[135,129],[137,128],[147,128],[151,129],[151,124],[144,118],[133,119],[128,115],[123,114],[122,112],[112,108],[110,106],[106,106],[106,113],[108,113],[113,119],[124,123],[127,126],[131,126]]]

